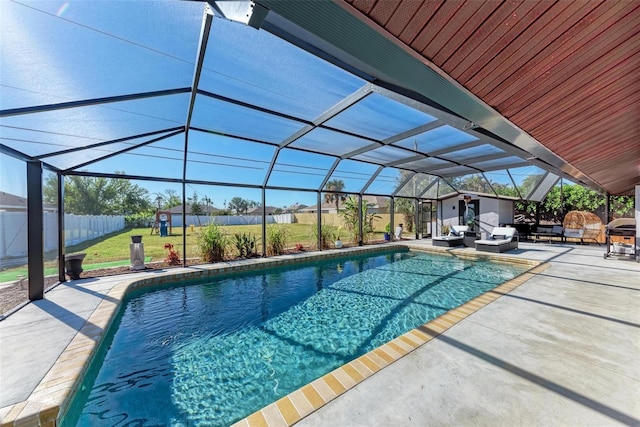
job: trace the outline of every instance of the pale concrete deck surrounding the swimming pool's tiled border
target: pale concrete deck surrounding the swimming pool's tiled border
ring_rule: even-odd
[[[402,243],[431,247],[430,240]],[[503,255],[549,268],[299,425],[640,425],[640,264],[603,253],[521,243]],[[190,269],[171,273],[182,270]],[[115,286],[158,274],[64,283],[0,322],[3,425],[46,422],[45,405],[27,399],[58,357],[79,335],[101,335],[87,319]],[[287,424],[278,414],[268,420]]]

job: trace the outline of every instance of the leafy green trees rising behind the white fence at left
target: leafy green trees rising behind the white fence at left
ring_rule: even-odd
[[[45,203],[57,202],[55,175],[46,179],[43,194]],[[68,176],[64,196],[65,212],[75,215],[131,215],[153,206],[147,189],[121,178]]]

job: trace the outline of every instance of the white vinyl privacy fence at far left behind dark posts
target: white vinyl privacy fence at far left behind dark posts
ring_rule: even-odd
[[[45,212],[43,216],[44,250],[58,247],[58,216]],[[124,228],[123,216],[71,215],[64,216],[66,245],[76,245]],[[0,212],[0,259],[27,255],[27,213]]]

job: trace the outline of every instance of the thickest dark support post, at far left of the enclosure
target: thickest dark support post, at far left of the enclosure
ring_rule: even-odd
[[[42,213],[42,163],[27,162],[27,257],[29,300],[44,298],[44,220]]]

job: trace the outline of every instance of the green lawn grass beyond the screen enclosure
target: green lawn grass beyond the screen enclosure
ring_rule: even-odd
[[[267,227],[270,227],[268,225]],[[287,230],[287,247],[294,247],[297,243],[305,247],[315,247],[315,225],[310,224],[280,224],[277,225]],[[335,228],[335,227],[334,227]],[[187,227],[187,257],[197,257],[197,238],[200,227]],[[223,227],[224,231],[233,236],[235,233],[252,233],[258,237],[259,252],[262,251],[262,226],[261,225],[228,225]],[[117,267],[129,264],[129,244],[131,236],[141,235],[144,243],[145,262],[163,261],[167,257],[167,250],[164,249],[165,243],[174,245],[174,249],[178,251],[180,257],[184,253],[182,244],[182,228],[175,228],[174,233],[167,237],[160,237],[158,234],[151,235],[149,228],[124,229],[105,236],[87,240],[77,245],[68,246],[65,250],[66,254],[77,252],[86,253],[86,257],[82,263],[82,268],[86,271],[96,270],[105,267]],[[176,233],[176,231],[178,231]],[[344,233],[343,233],[344,234]],[[346,236],[343,236],[343,240]],[[382,233],[375,233],[374,238],[379,239]],[[55,257],[57,253],[50,252],[46,258],[50,261],[45,262],[45,276],[56,275],[58,268]],[[26,277],[27,267],[21,266],[11,268],[0,272],[0,283],[19,280]]]

